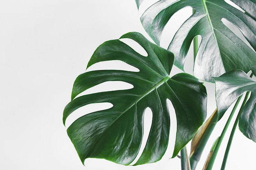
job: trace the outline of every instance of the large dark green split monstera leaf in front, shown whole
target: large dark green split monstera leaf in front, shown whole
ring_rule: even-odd
[[[135,165],[161,159],[170,132],[166,99],[171,100],[177,117],[173,156],[191,140],[206,117],[207,95],[202,83],[186,73],[169,77],[173,53],[149,42],[139,33],[127,33],[121,38],[135,40],[148,56],[140,55],[120,40],[111,40],[97,48],[88,67],[101,61],[120,60],[137,67],[139,72],[97,70],[79,75],[74,82],[72,101],[63,113],[65,124],[68,115],[81,106],[102,102],[113,105],[112,108],[76,119],[67,129],[82,162],[90,157],[124,165],[132,163],[141,147],[144,111],[148,107],[153,113],[152,125],[146,146]],[[134,87],[76,97],[86,89],[106,81],[123,81]]]

